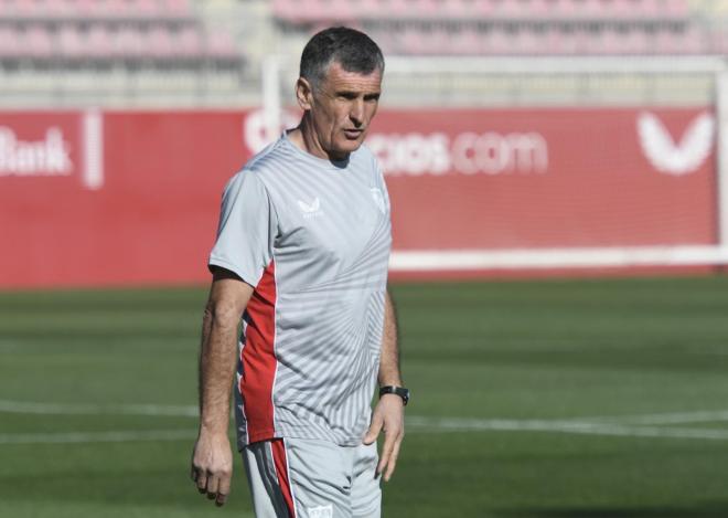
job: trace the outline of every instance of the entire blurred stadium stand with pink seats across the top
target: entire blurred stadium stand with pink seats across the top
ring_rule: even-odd
[[[728,0],[0,0],[0,106],[257,105],[266,56],[297,56],[331,24],[367,31],[389,56],[728,53]],[[524,82],[464,68],[414,86],[392,72],[386,101],[399,105],[670,104],[711,87],[699,74]]]

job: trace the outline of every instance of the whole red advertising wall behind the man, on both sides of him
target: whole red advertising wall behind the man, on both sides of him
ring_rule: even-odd
[[[264,118],[0,113],[0,287],[206,282]],[[722,262],[716,127],[711,107],[382,110],[393,275]]]

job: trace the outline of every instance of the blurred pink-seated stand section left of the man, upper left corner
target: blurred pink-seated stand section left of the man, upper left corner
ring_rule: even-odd
[[[231,104],[247,63],[240,24],[221,23],[229,9],[238,2],[0,0],[2,105]]]

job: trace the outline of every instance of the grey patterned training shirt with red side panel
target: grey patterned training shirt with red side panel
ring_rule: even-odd
[[[361,444],[379,366],[389,198],[374,155],[317,158],[286,134],[223,195],[211,266],[255,287],[243,317],[238,446]]]

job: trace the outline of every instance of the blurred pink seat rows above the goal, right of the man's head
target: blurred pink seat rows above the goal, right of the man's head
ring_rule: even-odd
[[[725,10],[728,2],[720,3],[713,9]],[[332,23],[361,27],[389,54],[650,55],[727,50],[722,24],[714,27],[709,10],[686,0],[275,0],[274,12],[290,31]]]

